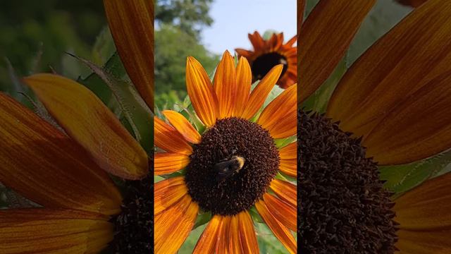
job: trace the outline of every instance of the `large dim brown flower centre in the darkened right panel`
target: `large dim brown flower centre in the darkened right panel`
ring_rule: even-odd
[[[394,253],[390,193],[360,140],[319,114],[298,112],[301,253]]]

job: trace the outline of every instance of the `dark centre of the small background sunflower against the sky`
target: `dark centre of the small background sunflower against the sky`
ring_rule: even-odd
[[[255,82],[257,80],[261,80],[266,73],[271,71],[271,68],[278,64],[283,64],[282,74],[280,74],[280,77],[287,71],[288,68],[288,61],[285,58],[285,56],[278,54],[276,52],[266,53],[262,54],[261,56],[257,57],[252,62],[252,82]]]

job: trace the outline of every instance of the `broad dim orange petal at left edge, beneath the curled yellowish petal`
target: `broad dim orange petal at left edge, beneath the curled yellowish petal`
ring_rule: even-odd
[[[108,174],[54,126],[0,93],[0,182],[44,207],[116,214]]]

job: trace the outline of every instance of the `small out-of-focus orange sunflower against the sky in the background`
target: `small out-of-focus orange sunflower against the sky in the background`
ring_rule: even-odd
[[[283,44],[283,32],[274,33],[269,40],[264,40],[259,32],[249,34],[254,51],[235,49],[238,56],[244,56],[252,69],[252,82],[261,80],[271,68],[283,64],[282,73],[277,84],[282,88],[297,83],[297,47],[293,46],[296,36]]]

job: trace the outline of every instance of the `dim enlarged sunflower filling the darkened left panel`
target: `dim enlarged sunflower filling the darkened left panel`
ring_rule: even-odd
[[[104,6],[150,119],[153,6],[120,0]],[[85,86],[45,73],[23,82],[58,126],[0,93],[0,182],[37,204],[0,211],[0,253],[152,250],[152,158]],[[125,181],[124,198],[108,173],[134,180]]]

